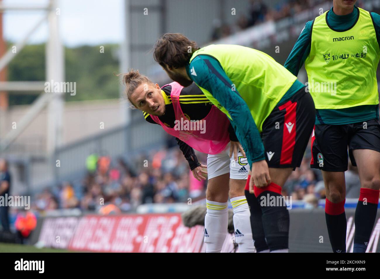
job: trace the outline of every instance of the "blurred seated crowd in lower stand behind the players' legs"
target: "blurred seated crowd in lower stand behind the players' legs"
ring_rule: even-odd
[[[207,155],[196,152],[199,162],[206,164]],[[95,160],[95,167],[90,166]],[[325,187],[320,170],[310,169],[310,144],[301,167],[292,172],[283,187],[283,195],[293,200],[316,204],[325,199]],[[32,208],[38,211],[80,208],[99,212],[102,205],[110,210],[135,211],[144,203],[174,203],[203,199],[207,180],[193,178],[178,147],[164,148],[140,155],[131,162],[122,158],[112,161],[108,156],[92,154],[87,160],[87,175],[79,181],[65,182],[57,188],[47,188],[37,195]],[[358,198],[357,168],[346,172],[347,197]],[[100,211],[100,213],[102,213]]]

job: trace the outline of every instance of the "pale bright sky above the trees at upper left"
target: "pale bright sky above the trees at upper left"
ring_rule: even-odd
[[[47,0],[3,0],[4,4],[46,4]],[[120,43],[123,38],[122,0],[59,0],[59,30],[65,46]],[[4,36],[16,42],[23,38],[43,16],[39,11],[6,11],[3,16]],[[28,43],[41,43],[47,38],[47,23],[36,30]]]

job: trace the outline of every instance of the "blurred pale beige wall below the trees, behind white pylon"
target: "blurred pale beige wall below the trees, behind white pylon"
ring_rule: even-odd
[[[100,122],[105,129],[123,125],[121,107],[128,106],[119,99],[66,102],[63,112],[63,145],[101,132]],[[13,106],[0,112],[0,138],[11,131],[13,122],[17,123],[27,113],[30,106]],[[10,150],[19,152],[45,153],[47,138],[47,109],[20,134]]]

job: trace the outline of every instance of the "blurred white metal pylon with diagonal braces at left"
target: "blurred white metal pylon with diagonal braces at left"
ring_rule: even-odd
[[[25,46],[27,40],[40,27],[40,25],[47,20],[49,25],[49,35],[46,44],[46,81],[63,82],[64,80],[64,61],[63,61],[63,47],[59,37],[58,30],[58,17],[57,14],[57,0],[49,0],[48,5],[5,5],[0,3],[0,11],[8,10],[39,10],[46,11],[46,15],[33,26],[27,35],[16,44],[17,52],[13,53],[8,50],[6,54],[0,59],[0,70],[20,52]],[[30,88],[28,86],[33,85]],[[41,83],[31,84],[30,82],[3,82],[0,84],[5,88],[15,88],[25,91],[35,91],[36,88],[41,87]],[[9,145],[21,134],[22,131],[33,121],[33,119],[48,106],[47,114],[47,151],[53,153],[54,150],[62,144],[62,114],[63,114],[63,93],[62,92],[45,92],[43,91],[40,96],[30,106],[28,112],[17,123],[17,129],[13,129],[6,134],[0,141],[0,152],[5,151]]]

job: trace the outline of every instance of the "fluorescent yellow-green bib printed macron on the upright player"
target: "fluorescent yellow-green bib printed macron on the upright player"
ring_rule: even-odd
[[[380,48],[372,17],[358,8],[356,24],[342,32],[327,22],[326,11],[312,25],[305,68],[316,109],[378,104],[376,69]]]

